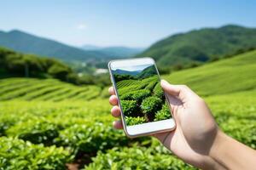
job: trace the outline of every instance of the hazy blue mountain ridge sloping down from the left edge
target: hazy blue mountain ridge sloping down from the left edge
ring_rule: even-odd
[[[0,46],[12,48],[15,51],[49,56],[65,61],[79,60],[91,61],[107,57],[99,51],[84,51],[61,42],[44,37],[37,37],[24,31],[0,31]]]

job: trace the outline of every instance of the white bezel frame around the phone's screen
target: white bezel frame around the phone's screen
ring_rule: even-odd
[[[121,62],[121,63],[125,62],[125,64],[129,63],[130,65],[131,65],[131,63],[137,63],[139,65],[139,64],[145,64],[145,63],[148,62],[148,64],[153,64],[154,65],[159,79],[160,79],[160,73],[159,73],[159,71],[158,71],[158,69],[155,65],[154,59],[151,59],[151,58],[148,58],[148,57],[137,58],[137,59],[115,59],[115,60],[111,60],[111,61],[108,62],[108,70],[109,70],[109,74],[110,74],[110,79],[111,79],[111,82],[113,83],[114,92],[115,92],[115,94],[118,98],[118,105],[119,105],[120,110],[121,110],[121,121],[123,123],[125,134],[130,138],[135,138],[135,137],[150,135],[150,134],[154,134],[154,133],[164,133],[164,132],[172,131],[176,127],[176,123],[175,123],[175,120],[173,119],[173,115],[172,115],[172,118],[166,119],[166,120],[163,120],[163,121],[147,122],[147,123],[133,125],[133,126],[126,126],[125,115],[123,113],[122,106],[120,105],[120,99],[119,99],[118,90],[116,88],[116,82],[115,82],[115,80],[113,78],[113,74],[112,74],[111,65],[113,65],[113,63],[115,63],[115,62]],[[166,98],[166,102],[168,104],[170,104],[168,98],[166,97],[166,94],[165,94],[165,98]],[[169,107],[169,110],[172,114],[172,110],[171,110],[170,105],[168,105],[168,107]],[[165,126],[163,126],[163,125],[165,125]],[[154,126],[154,128],[148,129],[148,127],[153,127],[153,126]],[[132,131],[140,132],[140,133],[131,133],[131,132],[129,132],[129,129],[127,129],[127,127],[128,128],[130,128],[130,127],[134,128],[134,129],[130,128],[130,131],[132,129]],[[155,127],[157,127],[157,128],[155,128]]]

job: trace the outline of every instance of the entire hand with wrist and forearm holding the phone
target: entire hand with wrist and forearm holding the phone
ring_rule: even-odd
[[[183,161],[202,169],[245,169],[255,164],[255,151],[221,132],[205,101],[191,89],[184,85],[172,85],[164,80],[161,81],[161,87],[166,93],[177,124],[172,132],[154,134],[167,149],[172,150]],[[118,99],[113,88],[109,88],[109,93],[112,94],[109,98],[113,105],[111,113],[119,117]],[[122,122],[113,122],[113,127],[123,128]],[[234,149],[237,153],[243,153],[250,163],[242,161],[239,155],[234,154]]]

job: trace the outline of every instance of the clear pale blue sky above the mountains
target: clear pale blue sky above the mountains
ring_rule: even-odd
[[[148,47],[172,34],[226,24],[256,27],[256,1],[3,0],[0,30],[73,46]]]

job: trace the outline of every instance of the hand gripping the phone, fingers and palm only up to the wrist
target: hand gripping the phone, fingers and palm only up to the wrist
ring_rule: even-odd
[[[170,102],[177,127],[172,132],[154,134],[154,137],[183,161],[195,167],[221,168],[218,162],[209,156],[218,126],[204,100],[183,85],[171,85],[161,81],[161,86]],[[109,98],[110,104],[113,105],[111,113],[119,117],[118,99],[113,88],[109,88],[109,93],[112,94]],[[113,127],[123,128],[122,122],[113,122]]]

